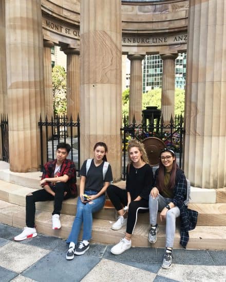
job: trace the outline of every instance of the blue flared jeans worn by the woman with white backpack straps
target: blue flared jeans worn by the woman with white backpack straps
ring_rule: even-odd
[[[94,190],[85,190],[86,195],[96,195],[98,192]],[[105,195],[91,201],[91,203],[83,204],[80,197],[77,203],[77,213],[71,228],[70,235],[66,243],[78,243],[79,233],[83,224],[83,240],[90,240],[92,237],[92,213],[103,208],[105,203]]]

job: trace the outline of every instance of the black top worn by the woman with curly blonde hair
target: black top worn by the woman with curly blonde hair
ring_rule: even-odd
[[[153,171],[152,167],[145,164],[143,167],[136,169],[133,164],[130,164],[126,170],[126,191],[130,193],[131,200],[141,196],[148,200],[150,190],[153,186]]]

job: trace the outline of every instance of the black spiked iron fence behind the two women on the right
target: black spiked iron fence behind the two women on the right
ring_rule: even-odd
[[[165,125],[163,117],[161,122],[152,116],[149,120],[149,124],[146,124],[144,120],[141,124],[137,125],[135,117],[132,124],[128,124],[128,118],[124,116],[123,127],[120,129],[123,132],[123,180],[126,175],[126,149],[130,139],[137,139],[140,142],[147,137],[157,137],[161,139],[165,146],[172,148],[179,157],[179,167],[182,167],[182,152],[184,143],[184,124],[182,115],[171,116],[170,123]]]

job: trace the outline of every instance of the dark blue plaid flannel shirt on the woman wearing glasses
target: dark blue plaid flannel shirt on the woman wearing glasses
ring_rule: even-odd
[[[155,173],[155,185],[156,186],[156,178],[158,176],[158,169]],[[174,197],[173,203],[180,209],[180,245],[183,248],[186,248],[186,245],[189,241],[189,230],[193,230],[196,227],[198,212],[188,209],[186,205],[184,205],[184,200],[186,198],[186,178],[184,173],[182,172],[180,178],[174,186]]]

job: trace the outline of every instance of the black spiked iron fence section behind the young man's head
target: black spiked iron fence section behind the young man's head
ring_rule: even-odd
[[[69,158],[76,163],[77,171],[80,170],[80,119],[79,114],[77,122],[73,122],[66,115],[53,116],[48,120],[47,116],[43,122],[40,116],[40,143],[41,143],[41,169],[44,165],[44,159],[52,160],[55,158],[56,146],[61,143],[68,143],[71,146]],[[74,129],[77,128],[76,134]]]

